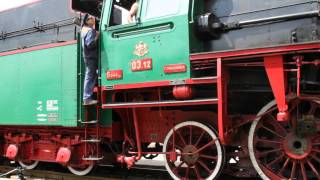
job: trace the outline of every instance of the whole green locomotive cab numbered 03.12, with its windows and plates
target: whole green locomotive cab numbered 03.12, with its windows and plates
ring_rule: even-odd
[[[135,21],[128,23],[134,2],[104,2],[102,85],[188,78],[188,4],[182,0],[140,0]]]

